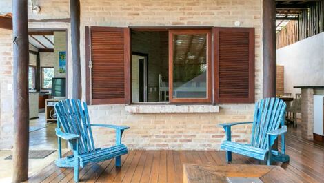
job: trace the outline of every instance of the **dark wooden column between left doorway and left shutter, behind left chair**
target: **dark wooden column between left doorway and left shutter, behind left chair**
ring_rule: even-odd
[[[72,97],[81,99],[81,63],[80,63],[80,1],[70,0],[71,44],[72,44]]]

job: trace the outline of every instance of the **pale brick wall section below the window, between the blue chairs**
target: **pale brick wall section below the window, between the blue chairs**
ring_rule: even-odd
[[[128,125],[123,143],[136,149],[218,149],[225,134],[216,127],[220,122],[252,119],[254,106],[221,105],[219,113],[133,114],[125,105],[89,106],[90,120],[99,124]],[[114,131],[92,128],[96,146],[114,144]],[[234,126],[233,140],[247,142],[250,126]]]

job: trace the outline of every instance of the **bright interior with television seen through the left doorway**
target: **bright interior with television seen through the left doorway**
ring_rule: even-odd
[[[66,31],[30,31],[29,39],[29,104],[30,148],[55,149],[54,128],[57,118],[54,102],[65,97]],[[54,82],[54,83],[52,83]],[[63,85],[63,93],[53,86]]]

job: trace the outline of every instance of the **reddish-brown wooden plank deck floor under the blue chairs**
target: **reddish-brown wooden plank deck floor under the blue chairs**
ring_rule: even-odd
[[[288,134],[290,163],[279,164],[298,176],[301,182],[324,182],[324,146]],[[130,151],[122,157],[123,166],[114,168],[114,160],[90,164],[80,171],[80,182],[183,182],[183,164],[225,164],[221,151]],[[259,164],[233,154],[232,164]],[[279,175],[280,176],[280,175]],[[72,168],[50,164],[30,177],[28,182],[73,182]]]

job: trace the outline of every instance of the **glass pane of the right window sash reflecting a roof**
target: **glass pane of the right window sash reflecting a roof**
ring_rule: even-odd
[[[206,34],[173,36],[174,99],[207,97],[206,39]]]

